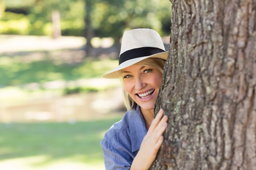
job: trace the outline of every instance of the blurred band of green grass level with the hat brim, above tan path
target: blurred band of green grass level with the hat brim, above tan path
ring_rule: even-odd
[[[118,65],[117,60],[90,58],[76,64],[57,64],[49,59],[31,62],[22,60],[19,56],[0,57],[0,86],[97,78]]]

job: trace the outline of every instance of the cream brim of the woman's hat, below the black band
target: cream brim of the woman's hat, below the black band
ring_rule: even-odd
[[[145,57],[138,57],[138,58],[130,59],[130,60],[127,60],[127,61],[121,63],[118,67],[114,68],[113,70],[109,71],[108,73],[103,74],[102,77],[107,78],[107,79],[116,79],[116,78],[120,77],[121,69],[124,69],[133,64],[136,64],[137,62],[145,60],[146,58],[162,58],[164,60],[167,60],[167,57],[168,57],[168,51],[165,51],[162,53],[156,53],[156,54],[145,56]]]

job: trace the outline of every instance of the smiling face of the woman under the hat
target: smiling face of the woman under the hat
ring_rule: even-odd
[[[124,89],[142,110],[152,110],[162,82],[162,73],[152,66],[132,65],[122,69]]]

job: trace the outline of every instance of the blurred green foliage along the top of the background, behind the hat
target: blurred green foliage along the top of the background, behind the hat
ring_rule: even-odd
[[[83,36],[86,6],[91,11],[94,36],[118,40],[125,30],[141,27],[155,29],[160,35],[170,34],[168,0],[2,0],[2,3],[6,8],[0,22],[2,34],[52,35],[52,11],[59,11],[62,34]]]

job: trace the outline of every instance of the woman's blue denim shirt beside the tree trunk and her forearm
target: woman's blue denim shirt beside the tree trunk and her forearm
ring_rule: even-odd
[[[101,141],[106,170],[129,170],[147,131],[138,105],[126,112]]]

